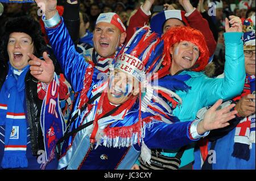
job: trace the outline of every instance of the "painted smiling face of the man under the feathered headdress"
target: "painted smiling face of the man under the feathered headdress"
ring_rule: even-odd
[[[138,94],[139,82],[121,70],[114,70],[109,77],[108,99],[112,104],[122,104]]]

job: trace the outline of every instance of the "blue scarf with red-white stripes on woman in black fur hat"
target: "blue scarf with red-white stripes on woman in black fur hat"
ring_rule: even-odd
[[[11,67],[0,91],[0,125],[5,126],[5,153],[1,166],[3,169],[27,167],[27,124],[24,113],[24,79],[29,66],[16,75]],[[1,155],[2,156],[2,155]]]

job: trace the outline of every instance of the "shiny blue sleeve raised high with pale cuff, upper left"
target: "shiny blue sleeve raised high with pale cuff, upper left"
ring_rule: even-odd
[[[64,72],[65,78],[71,83],[73,90],[79,92],[83,87],[85,70],[89,64],[84,60],[84,57],[76,52],[75,45],[65,27],[63,18],[58,21],[53,16],[52,19],[53,21],[51,19],[43,20],[53,52],[61,70]]]

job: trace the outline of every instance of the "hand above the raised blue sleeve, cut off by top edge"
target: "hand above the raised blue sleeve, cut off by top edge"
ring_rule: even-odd
[[[52,18],[56,13],[57,0],[35,0],[36,4],[42,9],[46,19]]]

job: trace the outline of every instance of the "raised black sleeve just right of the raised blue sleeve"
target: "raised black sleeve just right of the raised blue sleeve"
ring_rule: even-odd
[[[79,18],[79,5],[77,4],[69,4],[67,1],[64,2],[64,12],[63,19],[65,22],[65,26],[68,29],[69,35],[75,46],[79,41],[79,29],[80,29],[80,18]]]

